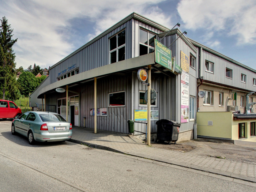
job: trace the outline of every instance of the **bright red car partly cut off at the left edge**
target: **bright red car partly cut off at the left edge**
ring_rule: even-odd
[[[15,118],[21,114],[21,109],[14,102],[0,100],[0,118]]]

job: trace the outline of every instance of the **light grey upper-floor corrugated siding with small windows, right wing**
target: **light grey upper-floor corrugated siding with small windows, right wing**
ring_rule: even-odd
[[[203,62],[207,60],[214,63],[214,74],[206,72],[205,64],[202,65],[204,74],[203,79],[241,89],[256,91],[256,87],[253,86],[253,78],[256,78],[256,74],[252,71],[222,59],[221,57],[209,53],[206,50],[203,50],[202,57]],[[226,78],[226,68],[233,70],[233,79]],[[246,83],[241,82],[241,73],[246,75]]]

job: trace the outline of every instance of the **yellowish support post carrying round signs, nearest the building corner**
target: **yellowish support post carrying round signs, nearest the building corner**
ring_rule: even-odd
[[[148,65],[148,86],[147,86],[147,145],[150,146],[150,110],[151,110],[151,65]]]

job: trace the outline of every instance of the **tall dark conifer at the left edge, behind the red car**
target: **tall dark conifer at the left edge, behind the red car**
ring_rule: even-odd
[[[8,92],[11,99],[18,99],[19,90],[14,70],[16,56],[12,49],[18,39],[12,39],[13,29],[11,29],[11,25],[8,25],[5,16],[0,20],[0,89],[3,99],[5,99],[5,92]]]

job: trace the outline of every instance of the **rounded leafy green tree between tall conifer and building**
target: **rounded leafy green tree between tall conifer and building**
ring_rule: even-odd
[[[20,74],[17,81],[19,83],[20,94],[25,97],[28,97],[29,93],[32,93],[38,86],[38,80],[35,78],[34,74],[28,71]]]

